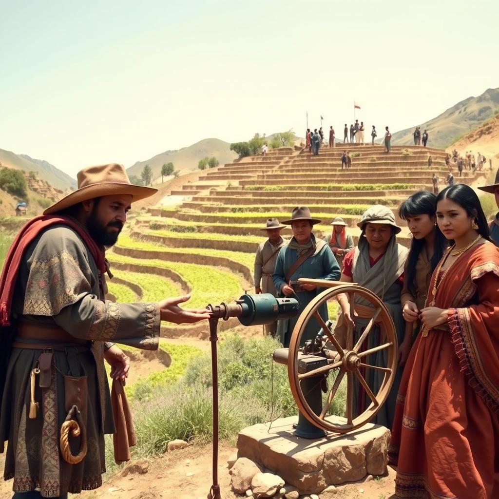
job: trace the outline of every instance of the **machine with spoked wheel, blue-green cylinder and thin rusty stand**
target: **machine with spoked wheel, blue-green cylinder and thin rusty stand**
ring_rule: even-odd
[[[382,407],[392,387],[397,368],[397,335],[393,320],[386,306],[376,294],[355,283],[322,279],[299,279],[300,282],[326,288],[313,298],[298,318],[291,335],[289,348],[277,349],[273,358],[287,364],[289,385],[296,402],[299,417],[295,434],[304,438],[320,438],[326,432],[347,433],[369,422]],[[332,323],[319,313],[322,304],[345,293],[350,303],[350,316],[362,317],[367,325],[354,331],[352,323],[345,324],[345,334],[337,338]],[[363,305],[356,304],[361,299]],[[273,320],[294,317],[298,303],[292,298],[275,298],[271,294],[244,295],[233,305],[209,305],[210,341],[212,341],[212,368],[214,392],[214,453],[213,486],[209,499],[219,499],[220,486],[217,475],[218,454],[218,370],[217,324],[220,318],[238,317],[244,325],[258,325]],[[321,326],[313,340],[300,346],[301,338],[311,318]],[[376,337],[371,337],[371,335]],[[355,338],[355,343],[354,343]],[[371,344],[369,347],[368,344]],[[374,346],[373,346],[374,345]],[[376,363],[370,364],[373,354]],[[370,370],[382,374],[378,388],[373,392],[366,381]],[[331,388],[328,378],[331,375]],[[346,423],[331,421],[329,409],[336,392],[346,375]],[[354,391],[363,390],[370,404],[361,410],[354,408]],[[327,395],[322,395],[322,393]]]

